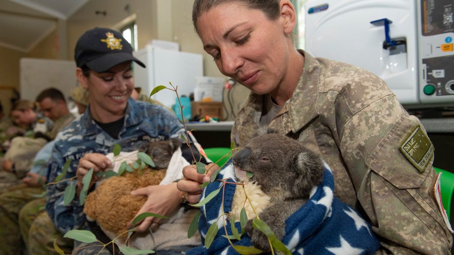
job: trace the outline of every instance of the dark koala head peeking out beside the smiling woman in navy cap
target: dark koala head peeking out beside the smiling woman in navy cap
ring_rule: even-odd
[[[173,152],[180,147],[182,142],[177,138],[155,141],[147,145],[145,153],[150,155],[154,162],[153,169],[164,169],[169,166]]]

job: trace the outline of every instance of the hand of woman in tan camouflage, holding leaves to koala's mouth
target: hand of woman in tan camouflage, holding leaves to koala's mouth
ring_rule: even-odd
[[[204,182],[209,182],[211,180],[211,175],[219,169],[219,166],[216,164],[208,164],[205,166],[208,170],[207,174],[197,173],[197,166],[195,164],[187,165],[183,167],[183,176],[184,179],[180,180],[177,183],[179,190],[186,192],[186,199],[191,204],[199,202],[200,194],[202,194],[203,188],[200,187]]]

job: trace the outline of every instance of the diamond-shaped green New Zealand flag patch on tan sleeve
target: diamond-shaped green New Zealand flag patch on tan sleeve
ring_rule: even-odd
[[[400,144],[400,152],[420,173],[423,173],[434,155],[434,146],[418,125]]]

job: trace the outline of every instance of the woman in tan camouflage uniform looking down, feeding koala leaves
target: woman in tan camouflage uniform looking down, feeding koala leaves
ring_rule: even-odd
[[[376,254],[450,254],[434,147],[379,77],[297,50],[290,0],[195,0],[192,20],[221,73],[251,91],[231,132],[236,146],[261,125],[301,141],[333,170],[335,195],[371,223]],[[195,203],[209,174],[183,173],[178,188]]]

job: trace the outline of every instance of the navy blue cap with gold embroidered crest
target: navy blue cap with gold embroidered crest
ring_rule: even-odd
[[[106,72],[126,61],[134,61],[145,67],[132,52],[131,44],[119,32],[95,27],[77,40],[74,58],[77,67],[87,66],[97,73]]]

